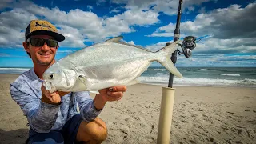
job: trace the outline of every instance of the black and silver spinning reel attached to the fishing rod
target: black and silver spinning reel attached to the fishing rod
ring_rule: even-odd
[[[178,50],[178,55],[184,54],[186,58],[190,58],[192,55],[192,50],[197,46],[196,42],[199,42],[201,39],[194,36],[187,36],[183,38],[182,44],[178,43],[182,47],[182,52]]]

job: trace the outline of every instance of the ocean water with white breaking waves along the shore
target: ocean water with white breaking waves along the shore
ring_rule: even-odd
[[[0,74],[22,74],[30,68],[0,68]],[[256,67],[178,67],[184,78],[174,76],[174,86],[246,86],[256,87]],[[169,71],[149,67],[138,80],[168,85]]]

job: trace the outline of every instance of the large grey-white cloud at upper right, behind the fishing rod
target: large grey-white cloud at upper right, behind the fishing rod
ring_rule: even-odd
[[[181,33],[197,37],[211,35],[214,38],[256,37],[255,9],[256,2],[248,4],[245,8],[231,5],[228,8],[213,10],[207,14],[198,14],[194,22],[181,23]],[[175,25],[170,23],[167,26],[159,27],[151,36],[173,36]]]

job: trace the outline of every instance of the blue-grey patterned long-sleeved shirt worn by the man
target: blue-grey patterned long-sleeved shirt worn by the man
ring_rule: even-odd
[[[41,102],[42,82],[34,73],[34,68],[31,68],[10,84],[11,97],[21,107],[30,127],[36,132],[61,130],[72,116],[78,114],[77,105],[86,122],[94,120],[100,114],[101,111],[95,109],[94,102],[86,91],[64,95],[59,105]]]

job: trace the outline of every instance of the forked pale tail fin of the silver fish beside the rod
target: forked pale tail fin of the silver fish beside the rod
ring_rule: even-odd
[[[170,54],[177,50],[178,41],[171,43],[169,46],[165,46],[162,49],[156,51],[159,54],[157,61],[165,66],[170,73],[176,75],[178,78],[183,78],[182,74],[178,71],[174,63],[170,59]]]

